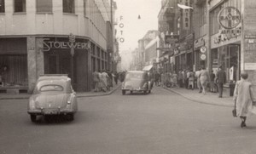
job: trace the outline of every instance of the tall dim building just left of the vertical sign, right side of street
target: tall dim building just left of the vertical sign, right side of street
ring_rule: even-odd
[[[177,8],[178,0],[162,0],[161,9],[158,14],[158,30],[160,31],[160,47],[158,68],[160,71],[169,72],[173,70],[175,60],[174,49],[180,34],[180,9]]]

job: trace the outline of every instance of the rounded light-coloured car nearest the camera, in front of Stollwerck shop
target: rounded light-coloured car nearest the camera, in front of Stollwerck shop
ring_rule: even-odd
[[[27,110],[33,123],[39,115],[63,115],[72,121],[77,111],[77,96],[67,75],[44,75],[38,78]]]

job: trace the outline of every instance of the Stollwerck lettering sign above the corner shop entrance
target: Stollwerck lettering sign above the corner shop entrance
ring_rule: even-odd
[[[52,41],[50,38],[44,38],[44,51],[49,51],[50,48],[77,48],[90,49],[90,43],[76,43],[65,41]]]

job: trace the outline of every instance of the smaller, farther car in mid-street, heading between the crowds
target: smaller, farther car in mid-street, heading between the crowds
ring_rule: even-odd
[[[122,83],[122,94],[126,91],[143,92],[144,94],[151,92],[150,81],[146,71],[127,71],[125,81]]]

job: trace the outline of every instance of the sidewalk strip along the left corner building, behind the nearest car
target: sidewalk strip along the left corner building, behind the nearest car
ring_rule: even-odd
[[[113,88],[107,92],[77,92],[77,97],[95,97],[95,96],[103,96],[112,94],[117,88],[121,86],[121,83],[115,84],[113,83]],[[28,99],[31,94],[0,94],[0,100],[21,100],[21,99]]]

